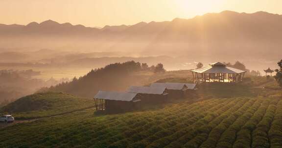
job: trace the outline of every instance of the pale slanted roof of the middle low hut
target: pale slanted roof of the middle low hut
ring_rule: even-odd
[[[145,94],[163,94],[165,87],[130,86],[127,92]]]

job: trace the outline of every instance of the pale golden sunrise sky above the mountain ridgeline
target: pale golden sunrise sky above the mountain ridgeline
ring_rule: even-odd
[[[52,19],[89,27],[189,19],[231,10],[282,14],[282,0],[0,0],[0,23]]]

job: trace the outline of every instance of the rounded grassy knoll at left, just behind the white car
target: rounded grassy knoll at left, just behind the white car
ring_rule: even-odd
[[[81,98],[62,92],[28,95],[1,108],[16,119],[32,119],[78,111],[94,106],[92,99]]]

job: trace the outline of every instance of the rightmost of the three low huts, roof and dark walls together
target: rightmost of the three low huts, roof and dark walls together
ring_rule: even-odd
[[[165,87],[169,98],[184,98],[195,90],[194,83],[152,83],[151,87]]]

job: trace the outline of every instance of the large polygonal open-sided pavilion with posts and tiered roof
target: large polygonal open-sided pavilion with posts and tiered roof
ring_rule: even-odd
[[[228,67],[223,63],[216,62],[209,66],[191,71],[195,83],[203,82],[240,82],[246,71]]]

